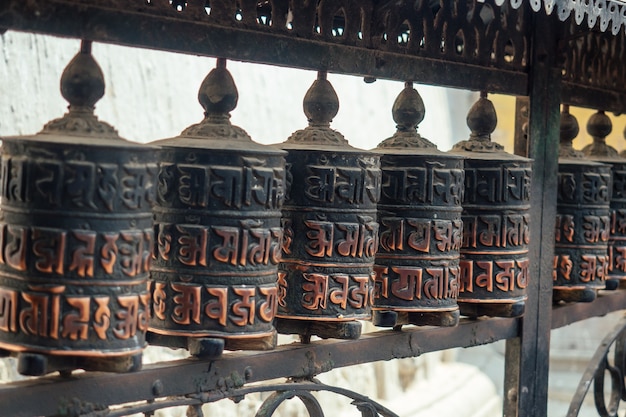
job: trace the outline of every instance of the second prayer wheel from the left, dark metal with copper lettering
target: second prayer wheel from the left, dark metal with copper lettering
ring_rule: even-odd
[[[149,341],[196,356],[272,349],[285,152],[231,124],[238,92],[226,60],[198,100],[204,120],[157,142]]]

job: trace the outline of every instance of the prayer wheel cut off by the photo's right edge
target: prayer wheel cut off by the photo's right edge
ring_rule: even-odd
[[[593,142],[582,150],[588,159],[611,167],[607,289],[626,287],[626,158],[607,145],[606,137],[612,130],[613,123],[603,111],[593,114],[587,122]]]

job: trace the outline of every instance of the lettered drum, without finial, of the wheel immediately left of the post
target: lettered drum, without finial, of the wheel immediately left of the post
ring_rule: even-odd
[[[506,158],[465,163],[459,302],[526,298],[532,174],[528,160]]]

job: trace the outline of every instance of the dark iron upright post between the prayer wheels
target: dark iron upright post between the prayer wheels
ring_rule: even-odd
[[[533,15],[529,74],[528,131],[533,162],[530,283],[520,340],[507,341],[507,369],[517,367],[518,385],[505,386],[504,415],[540,417],[547,413],[552,260],[556,218],[560,73],[556,66],[555,16]],[[513,378],[505,378],[513,384]]]

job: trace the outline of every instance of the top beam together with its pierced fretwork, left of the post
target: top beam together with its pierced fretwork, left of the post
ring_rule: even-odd
[[[178,3],[162,0],[149,4],[142,0],[106,4],[8,0],[4,12],[0,11],[0,26],[241,61],[526,94],[529,41],[525,19],[529,13],[524,8],[477,2],[460,6],[465,15],[455,9],[454,2],[433,10],[428,2],[416,10],[406,2],[397,12],[386,2],[377,2],[373,10],[373,3],[298,2],[292,8],[290,29],[283,14],[289,7],[287,0],[243,2],[240,15],[232,2],[212,2],[209,15],[195,2],[178,12]],[[364,10],[370,19],[351,19],[346,12],[354,10]],[[426,22],[424,33],[419,19]],[[374,21],[381,26],[371,26]],[[480,31],[473,28],[474,23],[480,24]],[[508,33],[510,27],[515,30]],[[398,38],[391,37],[392,33]],[[250,42],[251,37],[256,42]]]

